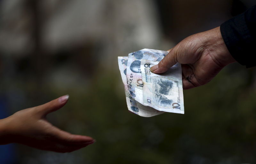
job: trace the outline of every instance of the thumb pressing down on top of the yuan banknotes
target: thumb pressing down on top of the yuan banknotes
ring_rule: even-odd
[[[153,73],[164,73],[177,63],[177,48],[170,49],[169,53],[157,64],[150,68]]]

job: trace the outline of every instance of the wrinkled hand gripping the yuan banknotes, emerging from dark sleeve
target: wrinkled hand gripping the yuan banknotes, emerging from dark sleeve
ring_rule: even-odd
[[[163,73],[177,62],[181,63],[183,89],[190,89],[208,83],[235,59],[228,52],[220,27],[216,27],[185,38],[150,70]]]

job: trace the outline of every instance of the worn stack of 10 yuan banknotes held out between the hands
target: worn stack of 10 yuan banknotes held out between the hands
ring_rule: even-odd
[[[180,63],[162,74],[150,71],[167,54],[168,51],[142,49],[118,57],[126,103],[131,112],[143,117],[164,112],[184,114]]]

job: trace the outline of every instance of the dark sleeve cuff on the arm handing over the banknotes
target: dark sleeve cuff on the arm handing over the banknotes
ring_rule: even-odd
[[[256,66],[256,5],[221,24],[220,32],[238,63],[246,68]]]

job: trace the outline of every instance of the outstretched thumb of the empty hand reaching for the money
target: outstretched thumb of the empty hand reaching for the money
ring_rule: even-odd
[[[69,95],[61,96],[58,99],[47,102],[43,105],[37,106],[36,108],[42,113],[43,116],[48,113],[54,112],[63,107],[68,101]]]

